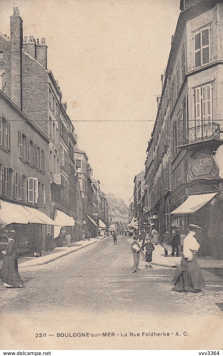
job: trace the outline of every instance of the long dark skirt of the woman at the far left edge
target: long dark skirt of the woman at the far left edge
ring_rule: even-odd
[[[0,278],[2,282],[5,282],[12,287],[24,284],[18,273],[18,261],[15,253],[11,256],[5,256],[1,267]]]

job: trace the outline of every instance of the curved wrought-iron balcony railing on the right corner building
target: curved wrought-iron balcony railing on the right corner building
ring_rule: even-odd
[[[209,124],[190,127],[181,132],[180,146],[190,145],[191,143],[220,138],[220,125],[211,122]]]

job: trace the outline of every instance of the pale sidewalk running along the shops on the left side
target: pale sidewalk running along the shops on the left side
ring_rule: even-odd
[[[85,246],[89,246],[95,244],[95,242],[99,241],[97,239],[90,239],[88,240],[81,240],[73,242],[70,247],[63,246],[63,247],[55,247],[52,251],[42,251],[41,257],[33,257],[32,254],[29,253],[25,256],[18,257],[18,266],[20,268],[24,267],[32,267],[32,266],[40,266],[45,265],[51,261],[57,260],[57,258],[69,255],[69,253],[80,250]],[[3,260],[0,261],[0,267],[2,266]]]

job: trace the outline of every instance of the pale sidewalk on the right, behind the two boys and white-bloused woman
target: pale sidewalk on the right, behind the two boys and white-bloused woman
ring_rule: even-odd
[[[132,243],[133,239],[129,239],[129,242]],[[140,246],[142,242],[139,242]],[[164,248],[161,245],[155,245],[155,250],[152,252],[152,264],[165,267],[177,267],[180,266],[180,261],[183,256],[180,253],[179,257],[171,256],[172,248],[169,247],[168,257],[165,257]],[[145,255],[145,249],[142,251]],[[213,260],[208,257],[197,257],[197,262],[201,268],[223,268],[223,260]]]

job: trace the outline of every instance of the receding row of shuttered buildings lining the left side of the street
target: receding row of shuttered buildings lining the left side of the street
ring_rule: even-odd
[[[26,253],[46,248],[48,233],[57,246],[68,231],[73,241],[97,233],[108,204],[47,68],[45,38],[23,36],[17,7],[10,24],[10,37],[0,33],[0,249],[10,227]]]

